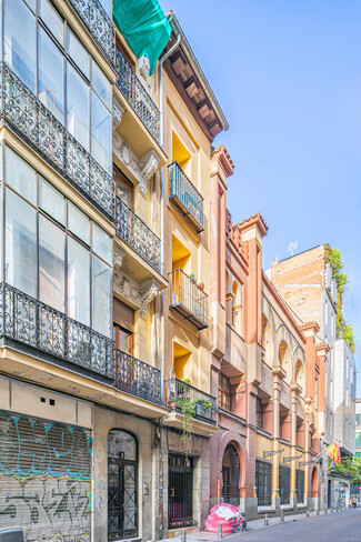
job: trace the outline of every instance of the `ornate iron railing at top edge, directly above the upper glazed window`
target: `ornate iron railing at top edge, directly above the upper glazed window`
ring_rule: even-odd
[[[92,39],[114,68],[116,62],[116,28],[99,0],[69,0]]]

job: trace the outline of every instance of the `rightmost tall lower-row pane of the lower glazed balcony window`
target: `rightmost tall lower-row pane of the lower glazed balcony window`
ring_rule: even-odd
[[[110,337],[111,269],[92,257],[92,328]]]

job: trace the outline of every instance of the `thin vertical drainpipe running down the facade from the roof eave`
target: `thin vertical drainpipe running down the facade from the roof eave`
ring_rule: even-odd
[[[181,34],[178,34],[176,43],[166,52],[159,62],[159,104],[160,104],[160,145],[163,147],[164,131],[163,131],[163,62],[168,57],[179,47],[181,42]],[[160,253],[161,253],[161,272],[164,274],[164,165],[160,170]],[[161,291],[161,399],[164,402],[164,348],[166,348],[166,329],[164,329],[164,290]]]

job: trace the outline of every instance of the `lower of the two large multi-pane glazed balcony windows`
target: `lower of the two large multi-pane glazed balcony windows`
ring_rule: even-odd
[[[110,337],[110,235],[8,148],[4,162],[6,281]]]

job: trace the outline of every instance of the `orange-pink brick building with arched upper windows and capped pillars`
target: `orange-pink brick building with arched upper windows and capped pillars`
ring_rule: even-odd
[[[315,322],[302,322],[262,272],[260,214],[235,225],[225,208],[233,164],[212,154],[212,504],[248,518],[315,509],[320,452]]]

